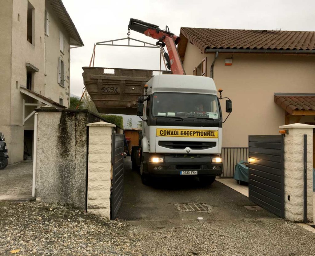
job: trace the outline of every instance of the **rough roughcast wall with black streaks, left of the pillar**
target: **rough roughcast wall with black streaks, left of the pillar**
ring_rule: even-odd
[[[86,210],[87,124],[101,118],[87,110],[37,113],[37,200]]]

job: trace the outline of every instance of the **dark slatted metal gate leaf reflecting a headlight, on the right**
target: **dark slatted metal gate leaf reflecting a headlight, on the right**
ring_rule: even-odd
[[[249,199],[284,217],[283,136],[249,136]]]

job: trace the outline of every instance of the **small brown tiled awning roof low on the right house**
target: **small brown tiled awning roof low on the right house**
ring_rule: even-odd
[[[315,95],[275,95],[274,101],[289,114],[294,110],[310,110],[315,115]]]

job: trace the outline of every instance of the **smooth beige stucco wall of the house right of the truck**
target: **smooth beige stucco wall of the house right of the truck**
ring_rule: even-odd
[[[188,43],[184,68],[191,75],[196,65],[207,56],[207,76],[214,54],[201,54]],[[315,56],[276,54],[233,54],[232,66],[225,66],[220,54],[214,66],[214,81],[223,96],[233,103],[233,111],[223,124],[223,147],[247,147],[248,135],[277,135],[278,127],[285,124],[285,111],[274,102],[275,92],[314,93]],[[225,102],[221,101],[223,117]],[[314,121],[314,116],[303,122]]]

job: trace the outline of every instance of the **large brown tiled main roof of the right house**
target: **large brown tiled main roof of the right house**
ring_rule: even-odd
[[[308,31],[182,27],[180,33],[203,52],[206,49],[315,50],[315,32]]]

